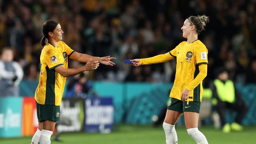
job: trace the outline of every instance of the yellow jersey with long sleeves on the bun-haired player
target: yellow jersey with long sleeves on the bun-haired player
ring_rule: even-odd
[[[176,59],[176,75],[170,97],[181,100],[183,90],[187,89],[190,91],[187,101],[201,102],[203,94],[202,80],[204,78],[198,75],[199,65],[206,64],[206,66],[200,67],[200,70],[206,74],[207,55],[208,50],[201,41],[196,40],[192,43],[183,41],[166,54],[140,59],[140,64],[148,65]],[[196,79],[197,75],[198,78]]]

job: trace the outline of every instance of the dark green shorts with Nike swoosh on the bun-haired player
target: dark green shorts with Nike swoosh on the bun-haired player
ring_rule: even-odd
[[[201,102],[182,102],[176,98],[171,98],[167,109],[179,112],[195,112],[199,113]]]

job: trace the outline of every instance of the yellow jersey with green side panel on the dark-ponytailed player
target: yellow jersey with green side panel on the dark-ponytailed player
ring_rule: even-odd
[[[42,105],[60,105],[66,78],[54,68],[64,65],[68,67],[68,57],[74,52],[65,42],[59,41],[58,47],[46,43],[41,56],[39,84],[35,91],[35,100]]]

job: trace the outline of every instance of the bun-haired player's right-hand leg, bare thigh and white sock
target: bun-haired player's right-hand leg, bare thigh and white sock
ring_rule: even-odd
[[[199,114],[195,112],[184,112],[187,133],[197,144],[208,144],[206,137],[198,130]]]

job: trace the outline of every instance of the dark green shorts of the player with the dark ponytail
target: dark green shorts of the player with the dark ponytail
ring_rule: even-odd
[[[60,116],[60,106],[56,105],[41,105],[35,102],[37,106],[37,119],[38,122],[43,122],[45,120],[59,121]]]

